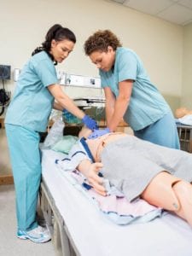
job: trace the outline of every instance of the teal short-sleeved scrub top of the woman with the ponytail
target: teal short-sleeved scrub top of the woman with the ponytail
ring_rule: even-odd
[[[41,51],[23,67],[5,123],[32,131],[46,131],[54,103],[54,97],[47,88],[50,84],[58,84],[55,66],[49,55]]]

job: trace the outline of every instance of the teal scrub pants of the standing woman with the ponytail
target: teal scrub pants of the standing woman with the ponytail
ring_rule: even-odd
[[[19,125],[5,125],[10,160],[15,182],[18,229],[32,230],[38,226],[36,209],[41,180],[39,134]]]

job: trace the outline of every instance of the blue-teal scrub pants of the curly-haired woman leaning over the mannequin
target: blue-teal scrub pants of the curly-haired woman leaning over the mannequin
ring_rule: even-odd
[[[167,148],[180,148],[177,126],[171,112],[143,130],[134,131],[134,135]]]

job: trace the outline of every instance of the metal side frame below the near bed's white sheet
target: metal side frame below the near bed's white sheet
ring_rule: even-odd
[[[42,178],[39,191],[40,207],[44,214],[44,219],[49,228],[51,239],[57,255],[80,256],[77,247],[67,229],[67,224],[62,218],[58,208],[55,206],[48,186]]]

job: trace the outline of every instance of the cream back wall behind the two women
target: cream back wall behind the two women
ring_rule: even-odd
[[[78,41],[73,53],[59,69],[97,76],[96,67],[84,55],[83,44],[92,32],[108,28],[118,35],[124,46],[134,49],[142,57],[150,78],[163,94],[181,96],[182,26],[105,0],[1,2],[0,64],[11,65],[12,70],[22,67],[32,50],[44,41],[49,26],[61,23],[73,30]],[[7,86],[9,90],[15,88],[13,81]],[[75,91],[73,95],[76,95]]]

